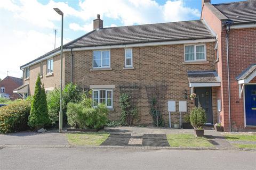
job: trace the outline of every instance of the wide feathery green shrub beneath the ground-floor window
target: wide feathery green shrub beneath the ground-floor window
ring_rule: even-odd
[[[68,124],[74,128],[98,129],[107,124],[108,109],[99,104],[97,108],[86,108],[82,104],[69,103]]]

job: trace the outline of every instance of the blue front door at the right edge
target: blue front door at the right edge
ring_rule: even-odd
[[[256,126],[256,84],[244,86],[246,125]]]

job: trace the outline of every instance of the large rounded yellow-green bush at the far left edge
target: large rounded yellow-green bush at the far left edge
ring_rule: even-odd
[[[0,108],[0,133],[19,132],[28,129],[30,102],[14,100]]]

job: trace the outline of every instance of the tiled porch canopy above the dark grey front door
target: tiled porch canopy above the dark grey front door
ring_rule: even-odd
[[[216,71],[188,71],[189,87],[220,86],[220,79]]]

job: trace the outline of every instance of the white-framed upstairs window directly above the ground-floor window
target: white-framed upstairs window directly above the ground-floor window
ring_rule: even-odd
[[[109,68],[110,67],[110,50],[93,51],[92,58],[93,68]]]

